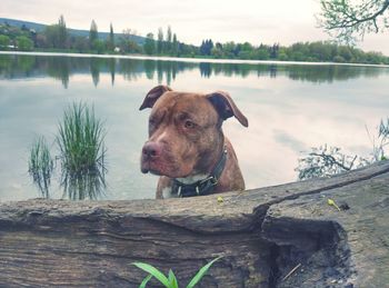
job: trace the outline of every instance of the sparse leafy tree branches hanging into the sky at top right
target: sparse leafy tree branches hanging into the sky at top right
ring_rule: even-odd
[[[321,0],[319,26],[340,41],[353,42],[365,33],[389,28],[389,0]]]

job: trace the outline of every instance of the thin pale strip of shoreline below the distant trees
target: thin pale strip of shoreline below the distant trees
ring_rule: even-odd
[[[54,56],[73,58],[114,58],[114,59],[134,59],[134,60],[154,60],[154,61],[176,61],[192,63],[237,63],[237,64],[282,64],[282,66],[353,66],[353,67],[378,67],[389,68],[389,64],[367,64],[367,63],[339,63],[339,62],[303,62],[303,61],[278,61],[278,60],[242,60],[242,59],[208,59],[208,58],[180,58],[168,56],[142,56],[142,54],[93,54],[93,53],[67,53],[67,52],[37,52],[37,51],[0,51],[0,54],[21,54],[21,56]]]

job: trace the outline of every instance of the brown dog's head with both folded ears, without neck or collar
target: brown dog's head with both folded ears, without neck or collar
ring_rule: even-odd
[[[207,173],[225,143],[222,121],[235,116],[248,127],[247,118],[223,91],[200,95],[157,86],[147,93],[140,110],[144,108],[152,110],[141,156],[143,173],[170,178]]]

